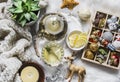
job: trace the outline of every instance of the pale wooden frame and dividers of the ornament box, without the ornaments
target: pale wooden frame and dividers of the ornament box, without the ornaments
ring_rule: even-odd
[[[108,25],[107,25],[106,20],[107,20],[108,18],[110,18],[111,16],[114,16],[114,15],[97,11],[94,20],[95,20],[96,17],[97,17],[97,13],[102,13],[102,14],[104,14],[104,16],[105,16],[105,18],[104,18],[104,19],[105,19],[105,22],[104,22],[104,25],[101,26],[101,27],[100,27],[99,25],[96,26],[95,24],[92,24],[91,30],[90,30],[90,33],[89,33],[89,38],[90,38],[90,35],[91,35],[91,33],[93,32],[93,30],[95,30],[95,29],[96,29],[96,30],[100,30],[102,34],[103,34],[104,32],[106,32],[106,31],[110,31],[109,28],[108,28]],[[118,18],[117,21],[118,21],[119,24],[120,24],[120,18],[119,18],[118,16],[117,16],[117,18]],[[113,39],[112,39],[112,41],[114,41],[114,40],[115,40],[115,36],[116,36],[116,35],[120,35],[120,33],[118,33],[117,30],[116,30],[116,31],[111,31],[111,32],[112,32],[112,34],[113,34]],[[102,34],[101,34],[100,37],[102,37]],[[112,41],[111,41],[111,42],[112,42]],[[112,51],[111,51],[110,49],[106,48],[106,47],[103,47],[103,45],[102,45],[99,41],[98,41],[99,48],[105,48],[106,50],[108,50],[107,57],[106,57],[105,61],[104,61],[103,63],[99,63],[98,61],[96,61],[97,52],[94,53],[94,58],[93,58],[93,59],[88,59],[88,58],[86,58],[86,57],[85,57],[85,53],[86,53],[86,50],[89,49],[89,44],[91,44],[91,43],[92,43],[92,42],[88,41],[88,44],[87,44],[87,46],[85,47],[85,49],[84,49],[84,51],[83,51],[83,53],[82,53],[82,57],[81,57],[82,60],[85,60],[85,61],[88,61],[88,62],[92,62],[92,63],[96,63],[96,64],[99,64],[99,65],[101,65],[101,66],[106,66],[106,67],[109,67],[109,68],[112,68],[112,69],[119,69],[119,68],[120,68],[120,50],[115,50],[115,52],[117,52],[117,53],[118,53],[118,56],[119,56],[119,65],[118,65],[118,66],[110,65],[110,64],[108,64],[108,61],[109,61],[109,58],[110,58],[110,55],[111,55],[111,52],[112,52]]]

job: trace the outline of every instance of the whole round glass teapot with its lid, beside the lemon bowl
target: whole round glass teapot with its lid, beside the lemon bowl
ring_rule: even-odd
[[[58,13],[48,13],[41,17],[38,33],[48,40],[59,40],[65,36],[67,26],[64,16]]]

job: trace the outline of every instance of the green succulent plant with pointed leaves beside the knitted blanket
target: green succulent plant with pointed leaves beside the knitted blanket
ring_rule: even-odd
[[[8,10],[12,13],[12,19],[22,27],[30,21],[37,20],[40,10],[39,0],[13,0],[13,5]]]

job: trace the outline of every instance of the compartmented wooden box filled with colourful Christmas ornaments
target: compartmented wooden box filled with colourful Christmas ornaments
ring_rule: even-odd
[[[120,46],[120,37],[116,37],[120,36],[120,18],[97,11],[94,21],[89,33],[88,44],[83,51],[81,59],[109,68],[119,69],[120,50],[118,47]],[[117,25],[117,28],[114,25]],[[115,41],[118,41],[118,43],[116,42],[117,48],[116,44],[114,44]]]

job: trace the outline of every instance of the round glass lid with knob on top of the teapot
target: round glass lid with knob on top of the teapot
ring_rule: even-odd
[[[43,20],[45,29],[51,34],[58,34],[63,30],[63,19],[57,15],[49,15]]]

